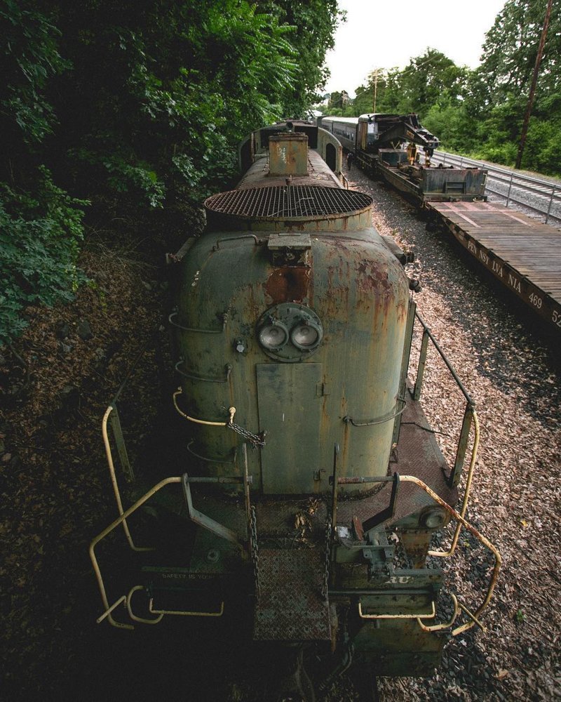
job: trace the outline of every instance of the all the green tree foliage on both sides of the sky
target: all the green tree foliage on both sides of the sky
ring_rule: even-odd
[[[480,67],[428,48],[332,95],[332,112],[417,112],[442,146],[514,161],[547,0],[506,0]],[[252,128],[319,99],[337,0],[0,0],[0,345],[29,303],[69,298],[85,223],[184,234]],[[559,173],[561,0],[523,168]],[[142,223],[141,225],[139,223]]]

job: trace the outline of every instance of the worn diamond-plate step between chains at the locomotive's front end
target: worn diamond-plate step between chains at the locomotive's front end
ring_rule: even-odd
[[[324,564],[323,549],[259,549],[255,640],[330,640],[329,607],[321,596]]]

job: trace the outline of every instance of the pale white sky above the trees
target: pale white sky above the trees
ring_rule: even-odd
[[[331,71],[326,91],[351,97],[374,68],[405,68],[426,48],[441,51],[456,65],[480,63],[485,32],[506,0],[339,0],[347,20],[335,34],[325,62]]]

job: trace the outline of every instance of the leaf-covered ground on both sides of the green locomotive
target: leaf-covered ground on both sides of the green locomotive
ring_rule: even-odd
[[[348,175],[351,187],[372,194],[379,232],[414,251],[409,272],[421,281],[419,312],[475,399],[481,439],[468,517],[503,557],[485,631],[471,630],[447,644],[442,668],[431,679],[381,679],[381,699],[559,698],[558,341],[542,338],[520,305],[446,235],[427,232],[397,194],[356,168]],[[149,419],[142,418],[161,402],[154,392],[154,335],[162,333],[168,300],[161,267],[127,252],[93,247],[82,265],[92,283],[76,302],[30,309],[29,329],[0,352],[0,697],[50,700],[74,691],[99,699],[99,689],[109,689],[105,698],[144,699],[165,688],[169,698],[193,698],[185,696],[189,675],[205,669],[196,651],[186,666],[178,647],[166,648],[156,634],[123,642],[123,633],[94,624],[100,602],[88,543],[114,518],[100,419],[131,359],[145,347],[130,406],[135,432],[147,433],[143,422]],[[86,329],[86,338],[78,333],[84,320],[91,333]],[[413,357],[418,347],[417,340]],[[442,432],[445,455],[453,458],[462,399],[432,354],[424,403]],[[450,565],[457,592],[477,603],[489,569],[476,543],[463,536]],[[221,661],[224,655],[218,647]],[[170,687],[178,670],[181,682]],[[154,683],[160,676],[168,681],[163,688]],[[227,689],[239,702],[256,699],[236,682]],[[326,696],[332,702],[358,698],[350,677]]]

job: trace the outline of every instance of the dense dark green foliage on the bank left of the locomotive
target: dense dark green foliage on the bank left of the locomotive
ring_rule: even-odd
[[[185,229],[325,83],[336,0],[0,0],[0,345],[72,295],[86,217]]]

